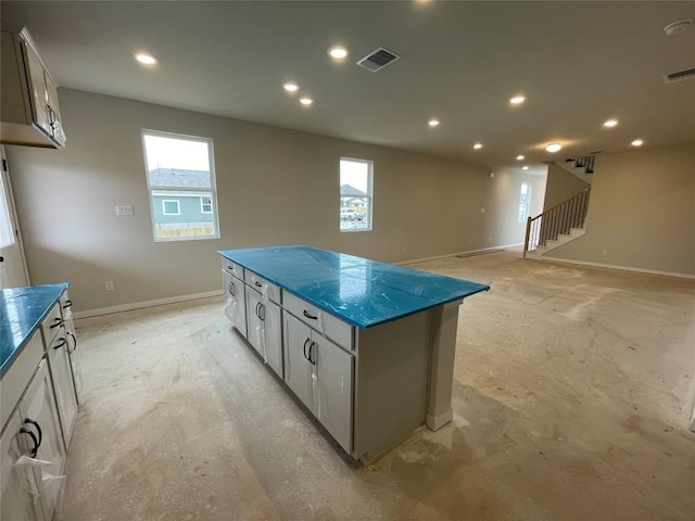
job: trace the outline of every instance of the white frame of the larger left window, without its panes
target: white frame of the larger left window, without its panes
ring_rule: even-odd
[[[210,173],[210,188],[198,188],[198,187],[167,187],[167,186],[153,186],[150,183],[150,171],[148,169],[148,149],[146,137],[152,136],[155,138],[168,138],[168,139],[179,139],[185,141],[197,141],[202,142],[207,145],[207,164],[208,164],[208,173]],[[140,139],[142,140],[142,158],[144,164],[144,177],[148,185],[148,196],[150,199],[150,221],[152,223],[152,239],[154,242],[179,242],[179,241],[203,241],[210,239],[219,239],[219,216],[217,213],[217,179],[215,175],[215,151],[213,145],[212,138],[205,138],[202,136],[190,136],[186,134],[178,132],[166,132],[162,130],[152,130],[149,128],[140,129]],[[173,167],[175,168],[175,167]],[[154,192],[159,192],[157,196],[163,196],[163,192],[174,193],[174,192],[184,192],[184,196],[198,196],[200,201],[203,198],[210,196],[212,208],[210,213],[202,212],[213,217],[213,227],[214,233],[210,236],[182,236],[182,237],[157,237],[156,232],[156,219],[155,219],[155,211],[154,211]],[[197,195],[198,194],[198,195]],[[205,194],[205,195],[202,195]],[[210,194],[210,195],[207,195]],[[164,202],[164,200],[163,200]],[[177,202],[179,202],[177,200]],[[162,205],[162,215],[181,215],[180,214],[180,202],[179,202],[179,213],[178,214],[164,214],[164,205]],[[202,209],[202,203],[201,203]]]

